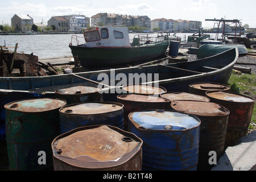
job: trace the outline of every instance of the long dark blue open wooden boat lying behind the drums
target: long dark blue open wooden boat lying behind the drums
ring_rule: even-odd
[[[234,64],[238,59],[237,48],[219,53],[205,59],[173,64],[147,65],[143,67],[118,68],[92,72],[69,73],[65,75],[40,76],[40,77],[0,77],[0,123],[5,123],[3,105],[25,98],[55,97],[55,90],[70,88],[72,86],[100,86],[105,92],[102,94],[104,101],[116,101],[118,88],[118,73],[123,76],[130,74],[152,75],[158,74],[158,80],[142,81],[139,84],[159,85],[167,92],[188,92],[189,85],[195,82],[226,83],[232,73]],[[109,79],[99,78],[100,74]],[[114,76],[114,78],[113,78]],[[104,81],[102,81],[104,80]],[[109,83],[109,84],[106,84]],[[127,84],[128,78],[127,78]],[[103,85],[103,86],[102,86]],[[118,86],[117,86],[118,85]]]

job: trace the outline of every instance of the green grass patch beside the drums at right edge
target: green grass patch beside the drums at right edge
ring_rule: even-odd
[[[241,74],[237,75],[235,72],[229,78],[226,85],[230,86],[230,92],[235,92],[249,96],[256,100],[256,74]],[[253,114],[251,115],[251,123],[256,124],[256,105],[253,107]],[[255,130],[255,126],[250,125],[250,130]]]

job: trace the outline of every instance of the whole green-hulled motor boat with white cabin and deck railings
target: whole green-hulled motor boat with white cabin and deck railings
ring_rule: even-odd
[[[168,34],[158,36],[139,34],[130,44],[127,27],[95,27],[84,31],[85,44],[69,44],[73,56],[78,56],[80,64],[85,68],[114,67],[154,59],[163,56],[168,47]],[[154,34],[156,35],[156,34]],[[154,40],[153,40],[154,39]]]

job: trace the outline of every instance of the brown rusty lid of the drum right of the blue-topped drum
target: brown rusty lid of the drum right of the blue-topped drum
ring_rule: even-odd
[[[225,107],[213,102],[172,101],[171,107],[183,113],[209,117],[229,114],[229,111]]]

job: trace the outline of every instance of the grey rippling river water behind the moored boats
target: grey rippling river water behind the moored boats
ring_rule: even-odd
[[[0,46],[15,47],[18,43],[18,52],[33,53],[40,58],[71,56],[71,49],[68,47],[71,43],[73,34],[35,34],[35,35],[0,35]],[[76,34],[82,36],[82,34]],[[133,39],[135,34],[129,34]],[[172,33],[171,33],[172,35]],[[178,33],[181,40],[187,39],[192,34]],[[210,34],[211,38],[215,38],[215,34]],[[14,48],[10,48],[14,50]]]

